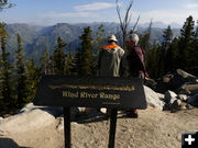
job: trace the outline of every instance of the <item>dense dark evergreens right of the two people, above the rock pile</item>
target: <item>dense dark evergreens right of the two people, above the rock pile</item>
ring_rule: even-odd
[[[160,78],[177,68],[195,76],[198,73],[197,26],[198,22],[195,25],[193,16],[189,16],[179,37],[173,38],[170,26],[164,31],[162,44],[154,43],[150,47],[146,68],[151,78]]]

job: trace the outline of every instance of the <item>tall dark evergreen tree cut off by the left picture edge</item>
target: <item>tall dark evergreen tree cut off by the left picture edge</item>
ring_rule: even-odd
[[[11,84],[11,64],[9,62],[9,53],[7,52],[7,31],[6,24],[0,23],[0,39],[1,39],[1,57],[0,57],[0,90],[2,102],[6,106],[12,106],[12,84]]]

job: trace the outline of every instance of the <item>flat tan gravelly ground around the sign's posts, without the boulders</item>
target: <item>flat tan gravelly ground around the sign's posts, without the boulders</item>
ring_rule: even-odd
[[[119,113],[116,148],[179,148],[182,132],[198,130],[198,109],[170,113],[148,106],[140,110],[139,115],[139,118],[127,118]],[[56,117],[34,129],[23,130],[28,125],[19,125],[21,129],[1,133],[0,148],[64,148],[63,124],[63,117]],[[109,125],[102,116],[76,118],[72,122],[72,147],[108,147]]]

